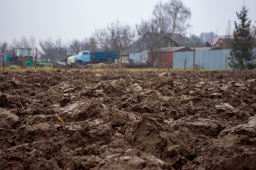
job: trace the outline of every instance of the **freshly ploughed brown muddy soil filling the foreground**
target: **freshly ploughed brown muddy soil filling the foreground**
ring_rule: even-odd
[[[1,170],[255,170],[256,72],[1,72]]]

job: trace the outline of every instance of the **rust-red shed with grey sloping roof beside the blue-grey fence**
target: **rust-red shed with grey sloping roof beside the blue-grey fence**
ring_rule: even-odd
[[[182,52],[182,51],[193,51],[193,50],[186,46],[160,48],[159,56],[158,56],[158,52],[155,52],[153,54],[153,57],[151,57],[151,54],[148,53],[148,65],[153,67],[158,67],[158,58],[159,58],[160,68],[173,68],[173,53]]]

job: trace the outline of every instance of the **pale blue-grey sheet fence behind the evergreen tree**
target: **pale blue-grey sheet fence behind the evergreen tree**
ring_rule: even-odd
[[[254,55],[256,48],[253,49]],[[195,51],[195,68],[203,68],[209,70],[225,70],[225,55],[227,58],[230,49],[227,50],[212,50],[212,51]],[[186,68],[193,68],[193,51],[174,52],[173,53],[173,68],[184,68],[186,58]],[[227,70],[233,70],[229,67],[230,60],[227,59]],[[256,58],[254,58],[256,63]]]

